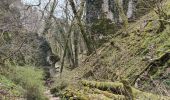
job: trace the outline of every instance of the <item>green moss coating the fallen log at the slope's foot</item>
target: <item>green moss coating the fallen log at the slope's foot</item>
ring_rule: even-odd
[[[124,81],[125,82],[125,81]],[[132,98],[134,100],[136,99],[142,99],[142,100],[164,100],[164,99],[170,99],[166,96],[160,96],[155,95],[152,93],[142,92],[140,90],[137,90],[131,86],[128,85],[128,83],[121,83],[121,82],[96,82],[96,81],[86,81],[83,80],[82,84],[89,86],[90,88],[97,88],[93,89],[95,93],[103,94],[104,96],[116,100],[126,100],[126,98],[129,97],[128,93],[132,95]],[[96,86],[96,84],[98,84]],[[107,89],[112,90],[112,93],[109,93]],[[130,91],[127,91],[127,89],[130,89]],[[98,90],[99,89],[99,90]],[[102,91],[106,90],[106,91]],[[116,92],[115,92],[116,91]],[[123,95],[123,96],[122,96]],[[118,99],[119,98],[119,99]]]

